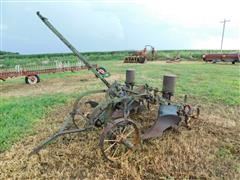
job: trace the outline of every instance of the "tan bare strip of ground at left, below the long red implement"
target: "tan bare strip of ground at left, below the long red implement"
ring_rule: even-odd
[[[120,75],[112,75],[107,80],[111,83],[119,80]],[[86,86],[100,83],[94,75],[70,76],[61,79],[47,79],[35,85],[3,84],[0,86],[2,97],[36,96],[49,93],[72,93],[84,90]]]

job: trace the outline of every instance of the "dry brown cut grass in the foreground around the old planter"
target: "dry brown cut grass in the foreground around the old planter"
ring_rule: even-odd
[[[71,105],[58,108],[36,124],[34,133],[0,154],[0,179],[240,178],[240,115],[233,107],[222,107],[221,113],[218,107],[211,111],[203,107],[201,118],[192,122],[191,129],[181,125],[178,131],[169,130],[161,138],[146,141],[118,165],[101,156],[101,130],[59,138],[28,158],[34,146],[58,129]],[[142,125],[153,123],[156,111],[153,108],[134,119]],[[227,126],[225,114],[232,121]]]

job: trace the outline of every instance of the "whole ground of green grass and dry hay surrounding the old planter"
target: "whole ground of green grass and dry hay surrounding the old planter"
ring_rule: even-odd
[[[164,74],[176,74],[174,99],[188,94],[191,103],[201,105],[200,118],[191,129],[182,125],[143,142],[121,164],[101,156],[101,130],[59,138],[28,157],[58,129],[80,93],[104,86],[86,70],[41,75],[32,86],[23,78],[0,82],[0,179],[240,179],[239,63],[123,64],[114,55],[97,63],[111,72],[110,82],[124,82],[126,69],[134,68],[137,83],[161,88]],[[151,110],[134,119],[153,122],[156,107]]]

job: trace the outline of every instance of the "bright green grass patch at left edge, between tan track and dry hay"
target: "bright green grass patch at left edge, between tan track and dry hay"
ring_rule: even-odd
[[[0,152],[30,132],[34,122],[51,112],[56,105],[64,104],[70,99],[64,94],[1,98]]]

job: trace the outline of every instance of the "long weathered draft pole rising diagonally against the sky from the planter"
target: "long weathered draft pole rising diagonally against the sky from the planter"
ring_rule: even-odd
[[[46,17],[43,17],[40,12],[37,12],[38,17],[43,23],[81,60],[83,63],[109,88],[110,84],[104,79],[97,70],[85,59],[85,57],[73,47],[73,45],[63,37],[63,35],[57,31],[57,29],[48,21]]]

